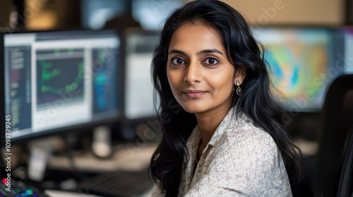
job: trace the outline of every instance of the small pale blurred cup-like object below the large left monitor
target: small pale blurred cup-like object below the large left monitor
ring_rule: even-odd
[[[111,128],[108,126],[93,129],[92,153],[99,158],[109,158],[112,155]]]

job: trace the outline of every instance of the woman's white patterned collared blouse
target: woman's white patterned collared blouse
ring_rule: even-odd
[[[193,130],[186,142],[189,160],[184,160],[178,196],[292,196],[273,138],[244,113],[237,117],[235,108],[229,110],[197,166],[201,135],[198,127]],[[157,186],[152,196],[163,196]]]

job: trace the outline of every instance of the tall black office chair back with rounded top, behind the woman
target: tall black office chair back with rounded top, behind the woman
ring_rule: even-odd
[[[334,196],[345,138],[353,125],[353,75],[341,75],[328,87],[321,111],[323,128],[313,174],[316,196]]]

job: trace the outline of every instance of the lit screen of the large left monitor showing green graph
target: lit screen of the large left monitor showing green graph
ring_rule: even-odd
[[[4,34],[11,140],[119,117],[119,36],[110,30]],[[10,116],[8,116],[10,115]]]

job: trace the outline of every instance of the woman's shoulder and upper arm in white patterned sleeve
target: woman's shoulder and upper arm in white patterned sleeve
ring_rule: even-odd
[[[285,165],[270,134],[244,115],[232,121],[210,151],[205,172],[227,179],[225,188],[249,196],[271,192],[291,196]]]

